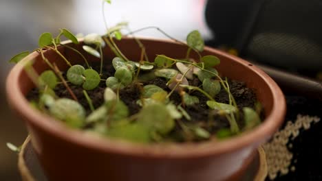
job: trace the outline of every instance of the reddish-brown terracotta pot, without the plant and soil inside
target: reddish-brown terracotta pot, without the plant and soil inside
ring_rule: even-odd
[[[142,43],[151,60],[155,54],[183,58],[187,49],[169,40],[142,39]],[[71,46],[87,54],[82,51],[81,45]],[[131,60],[139,59],[140,48],[133,39],[124,38],[118,46]],[[59,49],[73,63],[82,60],[70,49]],[[107,48],[104,53],[105,57],[114,57]],[[6,87],[8,100],[12,109],[27,124],[35,152],[50,180],[235,180],[252,160],[255,149],[267,141],[283,122],[286,102],[277,84],[252,64],[208,47],[202,54],[215,55],[222,60],[216,67],[222,75],[244,81],[248,87],[255,88],[266,114],[261,125],[225,141],[167,145],[140,145],[71,130],[60,121],[34,110],[25,99],[34,85],[21,64],[36,60],[36,71],[40,73],[47,69],[36,52],[10,72]],[[56,62],[61,70],[67,68],[53,51],[45,51],[45,57]],[[98,61],[93,56],[87,58]]]

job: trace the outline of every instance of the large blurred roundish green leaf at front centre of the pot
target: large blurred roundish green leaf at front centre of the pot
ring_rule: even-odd
[[[167,134],[175,127],[175,121],[164,104],[144,106],[138,113],[138,123],[160,134]]]

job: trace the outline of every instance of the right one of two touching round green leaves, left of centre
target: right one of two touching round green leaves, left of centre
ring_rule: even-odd
[[[85,82],[83,84],[85,90],[92,90],[100,84],[100,75],[93,69],[86,69],[83,72],[83,75],[85,77]]]

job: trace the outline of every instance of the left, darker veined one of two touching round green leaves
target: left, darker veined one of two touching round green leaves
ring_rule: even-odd
[[[83,84],[85,78],[83,73],[85,68],[79,64],[75,64],[70,67],[67,71],[67,80],[74,85],[81,85]]]

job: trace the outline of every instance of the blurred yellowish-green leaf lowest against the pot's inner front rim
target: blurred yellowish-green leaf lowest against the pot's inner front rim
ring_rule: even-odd
[[[107,130],[107,135],[112,138],[122,138],[135,143],[149,143],[151,141],[150,130],[144,125],[137,123],[111,128]]]

